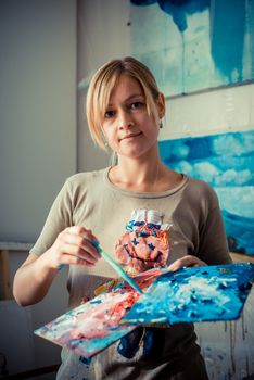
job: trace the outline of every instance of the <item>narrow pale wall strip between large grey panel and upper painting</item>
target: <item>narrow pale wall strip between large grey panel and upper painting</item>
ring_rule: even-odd
[[[78,2],[78,172],[107,166],[110,154],[96,148],[85,118],[86,90],[91,74],[106,61],[129,55],[129,0]],[[84,80],[85,79],[85,80]]]

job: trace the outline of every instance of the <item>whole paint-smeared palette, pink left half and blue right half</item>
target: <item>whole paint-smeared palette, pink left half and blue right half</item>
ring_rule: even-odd
[[[151,269],[68,311],[36,334],[92,357],[142,324],[230,320],[240,317],[254,280],[254,264]]]

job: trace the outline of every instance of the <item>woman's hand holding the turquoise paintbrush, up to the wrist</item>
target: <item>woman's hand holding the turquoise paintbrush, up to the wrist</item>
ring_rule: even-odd
[[[59,233],[45,255],[51,268],[59,269],[72,264],[93,266],[101,257],[93,242],[98,243],[98,240],[91,230],[82,226],[67,227]]]

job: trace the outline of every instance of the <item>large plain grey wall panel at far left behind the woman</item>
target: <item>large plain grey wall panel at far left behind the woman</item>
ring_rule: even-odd
[[[0,240],[34,242],[76,170],[76,2],[0,2]]]

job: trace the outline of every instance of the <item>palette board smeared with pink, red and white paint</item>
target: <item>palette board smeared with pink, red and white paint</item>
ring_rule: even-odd
[[[135,280],[144,290],[164,271],[151,269],[136,276]],[[119,320],[139,296],[140,293],[122,282],[113,291],[68,311],[35,333],[89,358],[136,328],[119,326]]]

